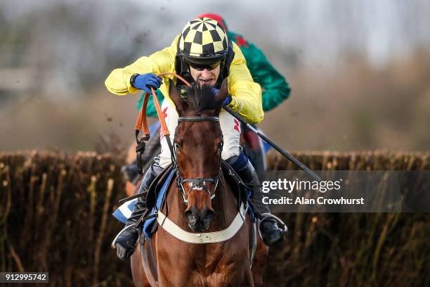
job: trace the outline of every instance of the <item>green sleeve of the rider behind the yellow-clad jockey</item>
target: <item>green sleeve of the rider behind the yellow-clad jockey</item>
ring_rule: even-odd
[[[240,34],[229,32],[233,42],[239,42],[240,49],[247,60],[249,72],[255,82],[259,83],[262,91],[263,110],[266,112],[276,108],[289,97],[291,89],[273,65],[268,62],[263,52],[254,44],[247,42]]]

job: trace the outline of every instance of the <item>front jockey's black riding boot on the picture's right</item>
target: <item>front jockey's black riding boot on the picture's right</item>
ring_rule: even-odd
[[[261,186],[259,178],[252,166],[251,162],[247,159],[244,153],[238,156],[233,156],[227,160],[228,164],[237,172],[240,179],[252,191],[252,201],[254,203],[254,212],[260,219],[260,231],[263,242],[268,245],[276,245],[285,239],[285,232],[278,227],[278,222],[271,218],[271,210],[267,204],[263,204],[261,200]]]

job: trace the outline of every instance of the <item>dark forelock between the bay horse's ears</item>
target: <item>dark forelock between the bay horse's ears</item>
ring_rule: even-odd
[[[185,102],[188,107],[201,111],[201,110],[219,110],[221,109],[222,101],[216,101],[214,91],[212,87],[204,84],[196,84],[195,82],[191,84],[188,88],[188,93],[185,98]]]

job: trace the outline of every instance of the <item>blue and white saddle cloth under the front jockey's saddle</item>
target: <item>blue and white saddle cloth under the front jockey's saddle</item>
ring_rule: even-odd
[[[173,179],[175,174],[174,170],[171,170],[169,173],[169,176],[166,177],[164,180],[164,183],[162,184],[162,188],[159,190],[159,193],[157,194],[157,201],[155,203],[155,206],[151,209],[151,212],[148,215],[153,215],[156,210],[159,210],[162,208],[164,197],[166,196],[167,189],[169,188],[171,179]],[[252,222],[255,221],[255,215],[252,210],[252,204],[249,204],[249,197],[251,196],[251,191],[247,191],[247,198],[248,198],[248,213],[249,216],[252,219]],[[123,203],[115,212],[112,213],[112,215],[119,220],[119,222],[126,223],[126,220],[130,217],[131,212],[133,212],[134,205],[137,202],[137,198],[127,201],[126,203]],[[157,222],[157,218],[151,218],[146,220],[143,223],[142,231],[145,236],[150,237],[151,234],[156,230],[154,228],[154,224]]]

